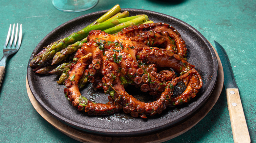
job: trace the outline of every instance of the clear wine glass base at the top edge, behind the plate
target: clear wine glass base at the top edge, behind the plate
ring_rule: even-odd
[[[53,6],[64,12],[81,12],[93,8],[99,0],[53,0]]]

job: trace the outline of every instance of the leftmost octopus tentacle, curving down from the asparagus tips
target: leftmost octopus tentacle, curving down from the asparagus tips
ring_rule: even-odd
[[[70,100],[72,105],[77,108],[79,111],[85,111],[89,115],[104,115],[104,114],[113,114],[120,110],[120,106],[112,102],[108,103],[94,103],[89,101],[86,97],[83,97],[79,92],[77,86],[79,79],[85,71],[86,66],[88,65],[89,59],[92,58],[92,54],[89,53],[85,56],[81,55],[82,50],[78,51],[75,58],[77,61],[75,64],[72,64],[69,78],[65,80],[64,93],[66,97]]]

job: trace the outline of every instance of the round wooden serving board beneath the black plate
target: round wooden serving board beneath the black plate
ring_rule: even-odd
[[[214,49],[214,48],[213,48]],[[170,140],[176,136],[179,136],[189,129],[191,129],[193,126],[195,126],[201,119],[204,118],[204,116],[212,109],[214,104],[219,99],[219,96],[221,94],[223,83],[224,83],[224,74],[223,74],[223,67],[220,61],[220,58],[214,49],[215,54],[218,59],[218,77],[216,85],[207,99],[207,101],[202,105],[201,108],[199,108],[196,113],[194,113],[192,116],[190,116],[188,119],[185,119],[180,124],[176,126],[172,126],[169,129],[166,129],[164,131],[160,131],[159,133],[150,134],[150,135],[143,135],[143,136],[134,136],[134,137],[108,137],[108,136],[100,136],[100,135],[94,135],[87,132],[83,132],[80,130],[77,130],[75,128],[72,128],[61,121],[55,119],[52,117],[47,111],[45,111],[39,103],[35,100],[29,85],[28,80],[26,80],[26,86],[27,86],[27,92],[29,99],[34,106],[35,110],[44,118],[46,119],[51,125],[53,125],[56,129],[58,129],[60,132],[64,133],[65,135],[68,135],[71,138],[74,138],[75,140],[78,140],[80,142],[95,142],[95,143],[128,143],[128,142],[140,142],[140,143],[149,143],[149,142],[164,142],[167,140]]]

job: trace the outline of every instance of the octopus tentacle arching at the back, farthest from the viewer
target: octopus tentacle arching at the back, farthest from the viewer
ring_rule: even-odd
[[[181,38],[180,33],[169,24],[142,24],[124,28],[120,33],[132,37],[132,40],[142,40],[150,47],[162,45],[175,54],[181,56],[186,56],[187,54],[185,41]]]

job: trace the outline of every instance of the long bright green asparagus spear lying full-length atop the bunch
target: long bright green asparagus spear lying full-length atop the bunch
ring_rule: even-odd
[[[64,38],[63,41],[59,42],[58,44],[54,44],[52,47],[49,47],[43,54],[43,57],[41,61],[38,63],[38,65],[43,64],[45,61],[50,60],[53,58],[53,56],[60,50],[64,49],[68,45],[82,40],[83,38],[87,37],[89,32],[91,30],[105,30],[111,27],[116,26],[117,24],[132,20],[134,18],[137,18],[138,16],[131,16],[131,17],[125,17],[121,19],[115,19],[115,20],[110,20],[107,22],[99,23],[99,24],[94,24],[90,27],[85,27],[84,29],[72,34],[71,36]]]

